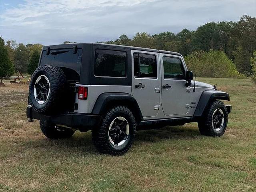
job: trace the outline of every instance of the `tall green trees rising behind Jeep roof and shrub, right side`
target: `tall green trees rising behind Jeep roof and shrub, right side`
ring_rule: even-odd
[[[136,33],[132,39],[122,34],[117,40],[102,43],[168,50],[183,56],[217,50],[224,52],[234,62],[240,74],[250,76],[250,58],[256,50],[256,18],[244,15],[238,22],[209,22],[199,26],[196,31],[183,29],[178,34],[162,32],[150,35],[142,32]]]

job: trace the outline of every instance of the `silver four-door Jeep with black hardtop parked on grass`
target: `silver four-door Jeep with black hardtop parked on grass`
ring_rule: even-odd
[[[96,148],[111,155],[131,147],[137,129],[198,122],[221,136],[230,100],[216,86],[193,81],[181,54],[110,44],[44,46],[29,86],[29,121],[50,139],[92,130]]]

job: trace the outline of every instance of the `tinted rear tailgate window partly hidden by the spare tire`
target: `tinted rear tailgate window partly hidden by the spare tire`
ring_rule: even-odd
[[[67,80],[79,82],[81,62],[82,49],[78,49],[76,54],[73,54],[73,49],[51,50],[49,55],[44,50],[40,65],[58,66],[64,71]]]

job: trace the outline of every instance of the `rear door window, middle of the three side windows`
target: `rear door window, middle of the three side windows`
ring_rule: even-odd
[[[133,54],[134,76],[156,78],[156,56],[150,54]]]

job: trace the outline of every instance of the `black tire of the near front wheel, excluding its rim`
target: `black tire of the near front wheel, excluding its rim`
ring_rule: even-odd
[[[216,109],[221,109],[224,114],[224,124],[219,131],[212,126],[212,116]],[[228,125],[228,110],[222,101],[214,100],[211,102],[203,113],[201,120],[198,122],[198,128],[202,135],[220,137],[224,134]]]

